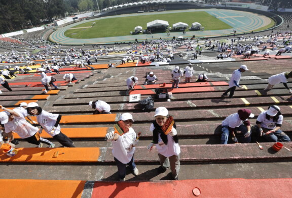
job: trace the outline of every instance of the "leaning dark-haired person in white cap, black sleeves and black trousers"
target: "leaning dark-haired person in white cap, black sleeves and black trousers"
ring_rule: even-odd
[[[61,132],[59,125],[61,115],[49,113],[39,107],[37,103],[28,103],[26,110],[30,115],[36,116],[36,120],[42,128],[60,144],[66,147],[75,147],[72,140]]]

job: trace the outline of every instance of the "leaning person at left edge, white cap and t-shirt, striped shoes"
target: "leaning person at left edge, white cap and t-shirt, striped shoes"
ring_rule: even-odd
[[[37,145],[37,147],[42,147],[43,143],[49,145],[49,147],[54,147],[55,144],[47,139],[40,136],[39,128],[32,126],[25,120],[25,110],[24,109],[7,109],[0,105],[0,108],[4,112],[0,112],[0,122],[4,124],[5,132],[7,134],[8,142],[13,140],[12,132],[17,133],[21,139]]]

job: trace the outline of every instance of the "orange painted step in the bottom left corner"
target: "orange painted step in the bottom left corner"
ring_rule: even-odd
[[[81,198],[86,181],[1,179],[0,197],[74,197]]]

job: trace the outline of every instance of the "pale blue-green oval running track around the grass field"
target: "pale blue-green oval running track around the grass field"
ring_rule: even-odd
[[[128,17],[135,15],[148,15],[148,14],[166,14],[166,13],[178,13],[178,12],[201,12],[202,10],[184,10],[184,11],[168,11],[163,13],[143,13],[143,14],[131,14],[131,15],[119,15],[119,16],[110,16],[110,17],[102,17],[95,18],[91,20],[86,20],[78,23],[78,25],[82,23],[87,23],[90,21],[96,21],[100,19],[106,18],[115,18],[115,17]],[[213,15],[217,19],[227,23],[232,26],[232,29],[225,30],[208,30],[208,31],[187,31],[186,34],[182,35],[181,32],[171,32],[170,36],[167,37],[166,33],[158,33],[158,34],[140,34],[140,35],[127,35],[127,36],[115,36],[115,37],[103,37],[103,38],[90,38],[90,39],[76,39],[69,38],[64,35],[64,32],[68,29],[74,28],[77,24],[67,25],[63,28],[59,28],[55,32],[50,35],[50,40],[53,42],[57,42],[60,44],[110,44],[115,42],[133,42],[137,38],[139,41],[143,41],[145,39],[171,39],[173,36],[184,36],[184,37],[192,37],[193,35],[198,37],[212,37],[212,36],[221,36],[221,35],[230,35],[233,29],[237,30],[237,33],[250,32],[252,30],[259,29],[261,27],[265,27],[270,24],[271,19],[268,17],[249,13],[242,11],[233,11],[233,10],[219,10],[219,9],[207,9],[205,12]],[[203,25],[203,24],[202,24]]]

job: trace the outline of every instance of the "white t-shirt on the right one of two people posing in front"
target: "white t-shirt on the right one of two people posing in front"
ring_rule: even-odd
[[[153,132],[154,129],[155,129],[154,124],[151,124],[149,130]],[[171,130],[176,131],[176,129],[173,127]],[[165,145],[165,143],[162,141],[160,137],[160,134],[158,134],[158,143],[155,144],[155,146],[158,153],[160,153],[161,155],[167,158],[173,155],[178,156],[180,154],[180,147],[178,143],[175,143],[175,141],[173,140],[173,137],[169,134],[167,134],[167,145]]]

